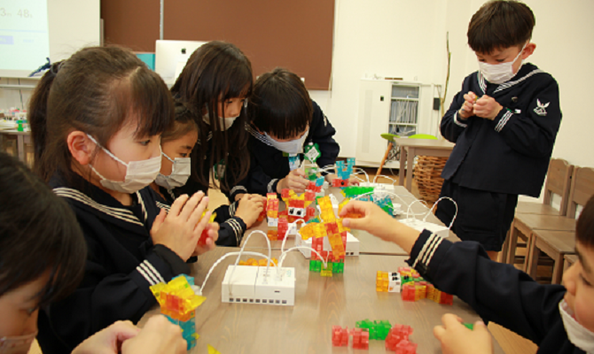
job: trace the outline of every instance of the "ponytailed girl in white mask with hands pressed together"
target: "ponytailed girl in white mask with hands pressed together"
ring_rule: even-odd
[[[188,273],[185,262],[215,247],[218,227],[201,219],[203,194],[178,198],[168,213],[157,206],[149,185],[174,106],[130,51],[87,48],[52,65],[29,112],[35,172],[70,205],[89,247],[82,285],[39,313],[43,352],[68,352],[116,319],[140,319],[156,304],[149,287]]]

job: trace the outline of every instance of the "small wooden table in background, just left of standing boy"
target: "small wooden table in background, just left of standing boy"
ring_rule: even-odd
[[[447,140],[395,138],[396,145],[400,147],[400,172],[398,183],[404,186],[404,163],[409,171],[406,173],[406,189],[412,190],[412,165],[418,155],[449,158],[449,154],[456,144]]]

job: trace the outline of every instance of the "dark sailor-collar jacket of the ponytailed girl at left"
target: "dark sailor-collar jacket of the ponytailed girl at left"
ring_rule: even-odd
[[[190,272],[172,250],[152,244],[152,221],[160,209],[150,187],[131,195],[134,205],[124,206],[82,178],[76,182],[81,189],[58,177],[50,186],[74,210],[89,254],[79,287],[39,314],[37,339],[44,354],[69,353],[116,320],[136,323],[157,304],[150,286]]]

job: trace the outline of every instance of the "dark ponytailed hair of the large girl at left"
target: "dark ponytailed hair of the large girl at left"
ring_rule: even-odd
[[[137,119],[137,137],[159,135],[172,123],[173,110],[165,82],[130,50],[79,50],[51,65],[31,97],[35,173],[44,181],[59,173],[72,182],[70,132],[82,131],[106,146],[129,119]]]

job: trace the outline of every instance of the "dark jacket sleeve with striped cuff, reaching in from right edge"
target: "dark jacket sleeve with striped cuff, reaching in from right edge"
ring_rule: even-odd
[[[569,342],[559,313],[567,290],[491,261],[480,243],[452,243],[424,230],[407,262],[437,289],[472,306],[485,323],[496,322],[535,342],[538,353],[583,353]]]

